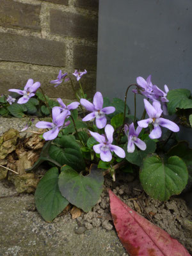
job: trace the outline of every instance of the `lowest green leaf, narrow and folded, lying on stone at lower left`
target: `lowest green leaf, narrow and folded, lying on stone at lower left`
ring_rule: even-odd
[[[51,168],[38,183],[35,191],[37,211],[45,221],[52,221],[68,205],[58,187],[58,168]]]

